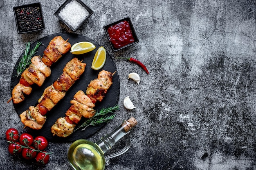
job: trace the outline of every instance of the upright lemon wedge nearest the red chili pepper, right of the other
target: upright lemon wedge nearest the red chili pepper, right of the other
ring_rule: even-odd
[[[106,62],[107,52],[104,47],[98,48],[96,51],[93,61],[92,61],[92,69],[99,70],[103,67]]]

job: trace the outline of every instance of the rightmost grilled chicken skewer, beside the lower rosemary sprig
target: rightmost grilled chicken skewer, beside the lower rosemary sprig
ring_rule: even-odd
[[[67,137],[74,131],[76,124],[79,123],[82,117],[91,118],[95,114],[95,103],[101,102],[105,97],[108,89],[112,85],[112,76],[115,73],[102,70],[98,74],[98,78],[92,80],[87,89],[86,94],[83,91],[78,91],[74,95],[72,104],[66,111],[65,117],[58,118],[54,125],[52,125],[51,131],[53,135],[59,137]]]

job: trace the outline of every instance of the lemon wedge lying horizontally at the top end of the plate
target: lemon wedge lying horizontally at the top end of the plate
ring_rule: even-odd
[[[86,52],[90,52],[92,50],[94,50],[96,47],[94,46],[94,44],[92,44],[91,42],[78,42],[76,44],[74,44],[71,49],[70,52],[72,54],[84,54]]]

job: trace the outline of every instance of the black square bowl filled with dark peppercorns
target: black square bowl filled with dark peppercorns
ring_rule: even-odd
[[[18,34],[45,29],[41,3],[13,7]]]

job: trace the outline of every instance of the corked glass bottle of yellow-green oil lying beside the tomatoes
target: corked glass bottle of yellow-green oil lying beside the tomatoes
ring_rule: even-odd
[[[115,130],[95,143],[86,139],[76,140],[68,150],[68,161],[75,170],[104,170],[104,153],[110,150],[121,137],[129,133],[136,124],[135,118],[124,120]]]

